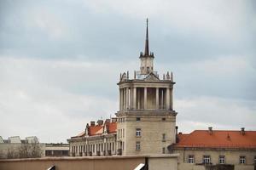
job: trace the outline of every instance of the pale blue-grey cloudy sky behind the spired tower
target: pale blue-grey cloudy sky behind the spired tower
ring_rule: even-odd
[[[66,142],[114,116],[147,17],[154,68],[177,82],[179,131],[256,130],[255,1],[2,0],[0,135]]]

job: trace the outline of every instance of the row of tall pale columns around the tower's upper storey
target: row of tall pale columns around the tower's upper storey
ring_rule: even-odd
[[[172,88],[119,88],[119,110],[172,110]]]

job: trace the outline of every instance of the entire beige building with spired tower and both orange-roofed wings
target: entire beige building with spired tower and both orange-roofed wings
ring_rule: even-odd
[[[120,74],[116,118],[112,122],[99,120],[96,125],[90,122],[82,133],[67,139],[71,156],[175,154],[179,170],[256,169],[256,131],[218,131],[210,127],[177,133],[177,112],[172,105],[175,82],[172,73],[167,71],[160,78],[154,71],[148,22],[145,50],[139,59],[140,71]]]

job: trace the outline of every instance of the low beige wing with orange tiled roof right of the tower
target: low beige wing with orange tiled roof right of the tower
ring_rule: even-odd
[[[256,131],[195,130],[178,133],[177,144],[168,148],[178,153],[177,169],[255,169]]]

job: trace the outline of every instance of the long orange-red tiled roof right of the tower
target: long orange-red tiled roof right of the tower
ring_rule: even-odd
[[[256,131],[195,130],[189,134],[178,134],[175,147],[196,148],[255,148]]]

